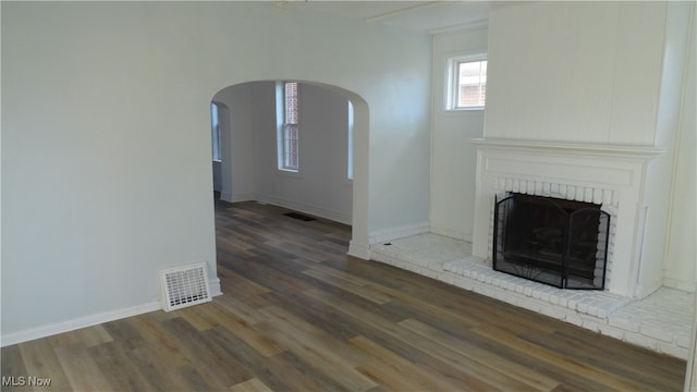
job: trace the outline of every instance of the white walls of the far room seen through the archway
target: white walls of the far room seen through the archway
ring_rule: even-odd
[[[213,100],[230,108],[232,123],[232,197],[223,199],[259,200],[350,224],[348,100],[307,83],[301,83],[298,94],[299,173],[278,170],[274,82],[216,94]]]

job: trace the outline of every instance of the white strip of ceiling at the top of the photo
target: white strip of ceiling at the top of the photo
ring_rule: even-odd
[[[482,21],[488,17],[494,2],[501,1],[331,1],[295,0],[278,1],[282,8],[311,9],[335,16],[363,20],[438,32],[450,27]],[[497,4],[499,5],[499,4]]]

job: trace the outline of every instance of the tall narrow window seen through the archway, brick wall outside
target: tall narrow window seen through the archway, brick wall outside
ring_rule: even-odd
[[[283,82],[277,94],[280,99],[279,170],[297,172],[299,169],[299,130],[297,111],[297,82]]]

